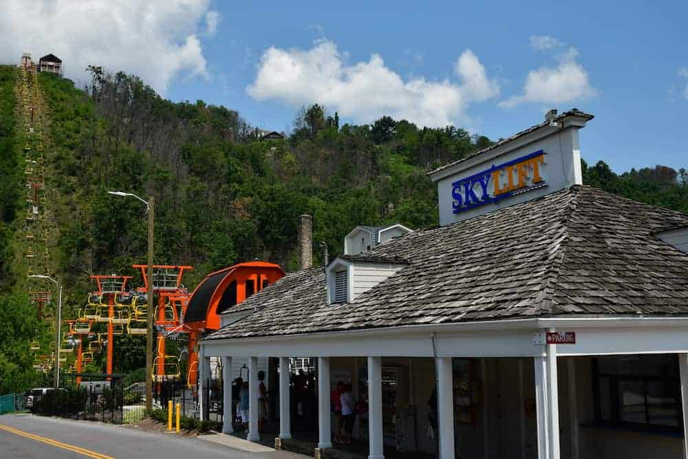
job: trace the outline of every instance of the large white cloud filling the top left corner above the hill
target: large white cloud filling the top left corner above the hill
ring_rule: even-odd
[[[210,0],[6,0],[0,14],[0,61],[22,52],[34,60],[52,52],[65,75],[85,80],[89,64],[140,76],[164,94],[180,74],[207,76],[198,34],[219,16]]]

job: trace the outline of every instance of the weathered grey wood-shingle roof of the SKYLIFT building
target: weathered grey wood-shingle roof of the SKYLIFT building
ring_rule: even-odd
[[[361,255],[409,264],[327,305],[322,268],[288,275],[207,339],[567,314],[688,314],[688,255],[654,236],[688,215],[572,186]]]

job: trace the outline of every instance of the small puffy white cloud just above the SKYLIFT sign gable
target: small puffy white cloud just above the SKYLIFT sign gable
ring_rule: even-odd
[[[588,72],[577,61],[578,52],[570,47],[559,56],[556,67],[540,67],[531,70],[526,78],[524,94],[513,96],[499,103],[500,107],[515,107],[520,103],[562,104],[596,95],[590,85]]]

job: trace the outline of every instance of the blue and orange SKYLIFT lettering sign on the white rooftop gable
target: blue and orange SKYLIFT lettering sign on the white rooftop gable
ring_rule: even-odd
[[[516,158],[451,184],[454,213],[496,203],[510,196],[545,186],[541,166],[545,162],[542,150]]]

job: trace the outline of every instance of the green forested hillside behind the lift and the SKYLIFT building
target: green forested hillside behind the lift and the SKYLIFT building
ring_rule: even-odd
[[[460,128],[422,128],[389,117],[340,125],[319,105],[296,114],[288,138],[261,140],[236,111],[200,100],[173,103],[136,77],[91,70],[86,91],[39,74],[47,111],[45,205],[56,225],[51,274],[65,285],[65,317],[74,317],[85,301],[89,275],[136,275],[131,264],[145,262],[144,206],[107,191],[155,195],[155,263],[193,265],[186,278],[193,288],[209,271],[238,261],[296,268],[302,213],[314,215],[314,241],[327,242],[332,255],[341,253],[344,235],[357,224],[437,224],[427,171],[491,144]],[[15,80],[16,69],[0,67],[0,314],[17,323],[11,337],[0,331],[0,381],[10,371],[8,361],[21,362],[12,371],[30,370],[23,350],[31,334],[22,330],[38,326],[21,319],[31,310],[25,271],[10,266],[23,256],[16,233],[25,213],[17,192],[23,129],[16,127]],[[585,167],[584,180],[688,212],[684,169],[616,175],[598,162]],[[321,263],[322,253],[314,255]],[[17,348],[3,348],[8,341]],[[0,382],[0,393],[8,387]]]

